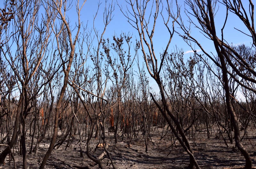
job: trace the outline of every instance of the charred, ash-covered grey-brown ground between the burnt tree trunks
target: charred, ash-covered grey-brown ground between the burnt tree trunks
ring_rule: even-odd
[[[115,144],[113,133],[106,133],[106,140],[109,143],[108,151],[116,168],[126,169],[157,169],[157,168],[186,168],[189,164],[189,156],[182,149],[178,141],[171,135],[171,132],[162,132],[163,129],[155,128],[151,131],[150,136],[152,141],[148,143],[148,152],[145,152],[145,141],[139,133],[137,138],[119,138],[119,142]],[[166,130],[165,130],[166,131]],[[241,132],[242,134],[243,132]],[[166,135],[165,135],[166,134]],[[121,134],[120,134],[121,135]],[[161,139],[161,136],[165,135]],[[218,135],[217,135],[218,136]],[[226,136],[225,133],[223,136]],[[190,143],[193,147],[194,155],[201,168],[241,168],[244,164],[244,157],[235,148],[235,144],[228,142],[224,143],[222,137],[216,138],[212,131],[211,138],[207,138],[205,131],[196,131],[196,142],[193,142],[192,136]],[[256,137],[255,130],[248,130],[249,139],[243,140],[242,143],[248,150],[252,158],[252,164],[256,165]],[[59,137],[60,139],[61,137]],[[171,141],[172,140],[172,141]],[[173,143],[175,140],[175,144]],[[47,151],[51,139],[44,139],[39,145],[37,155],[35,153],[28,154],[27,161],[29,168],[38,168],[42,161],[45,152]],[[99,139],[91,140],[91,154],[95,157],[103,152],[103,148],[95,147],[99,143]],[[27,136],[27,148],[29,147],[30,137]],[[59,149],[54,149],[45,168],[98,168],[91,166],[91,160],[86,156],[86,140],[83,140],[84,158],[80,158],[79,136],[74,136],[74,141],[65,150],[67,142],[64,142]],[[4,147],[0,147],[0,151]],[[18,152],[18,147],[14,147],[14,158],[17,168],[22,168],[22,156]],[[112,168],[111,162],[107,155],[102,160],[105,168]],[[14,168],[12,158],[9,162],[9,157],[6,158],[6,164],[0,165],[0,168]]]

